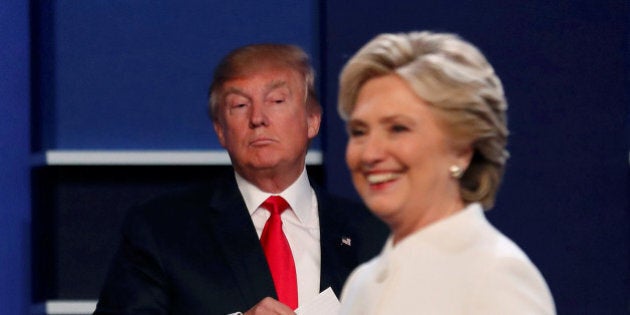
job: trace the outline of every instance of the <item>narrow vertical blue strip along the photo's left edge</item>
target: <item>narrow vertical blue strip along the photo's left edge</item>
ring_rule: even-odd
[[[30,273],[28,2],[0,1],[0,314],[26,314]]]

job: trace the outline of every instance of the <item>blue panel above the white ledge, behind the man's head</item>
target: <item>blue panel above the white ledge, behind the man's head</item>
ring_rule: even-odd
[[[38,5],[44,149],[219,149],[206,114],[219,58],[259,42],[318,55],[314,0]]]

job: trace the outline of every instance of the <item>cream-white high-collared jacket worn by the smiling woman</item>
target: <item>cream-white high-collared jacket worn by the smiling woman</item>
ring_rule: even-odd
[[[344,315],[555,314],[549,288],[523,251],[473,203],[359,266]]]

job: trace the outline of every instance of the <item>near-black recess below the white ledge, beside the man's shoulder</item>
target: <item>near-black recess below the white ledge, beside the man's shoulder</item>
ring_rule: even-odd
[[[322,184],[322,166],[307,171]],[[96,300],[130,206],[233,172],[228,165],[34,168],[33,299]]]

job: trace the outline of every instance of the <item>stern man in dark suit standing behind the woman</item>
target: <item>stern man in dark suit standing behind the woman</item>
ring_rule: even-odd
[[[352,269],[381,249],[379,221],[310,184],[305,158],[321,107],[300,48],[228,54],[214,73],[210,112],[234,173],[130,211],[95,314],[293,314],[296,305],[278,301],[274,253],[261,246],[269,196],[288,203],[281,230],[299,306],[328,287],[339,295]]]

